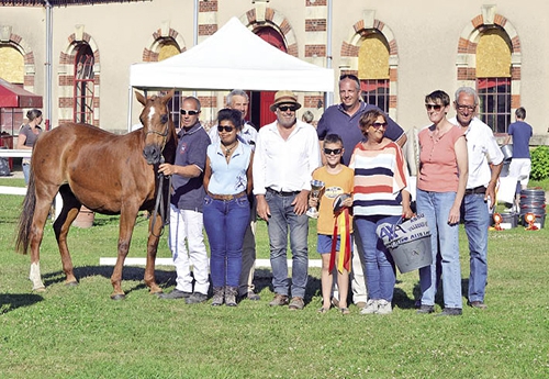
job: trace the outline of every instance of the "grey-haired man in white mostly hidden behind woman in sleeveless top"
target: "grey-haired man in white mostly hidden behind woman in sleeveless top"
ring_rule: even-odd
[[[240,111],[243,119],[243,129],[238,133],[238,140],[243,143],[250,145],[251,149],[256,148],[257,131],[254,125],[244,119],[248,114],[249,98],[246,91],[242,89],[234,89],[227,96],[227,108]],[[220,134],[217,127],[210,130],[210,140],[213,144],[219,143]],[[254,289],[254,274],[256,266],[256,202],[250,199],[251,211],[250,222],[244,235],[244,244],[242,252],[242,271],[238,285],[238,297],[240,299],[260,300]]]

